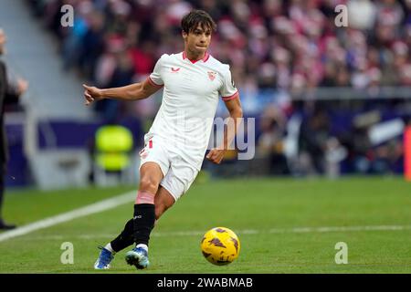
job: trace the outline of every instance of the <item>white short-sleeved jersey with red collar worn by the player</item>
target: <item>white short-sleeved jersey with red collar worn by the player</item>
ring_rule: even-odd
[[[229,66],[207,53],[198,61],[189,60],[184,52],[164,54],[149,81],[163,87],[163,102],[144,140],[161,138],[168,148],[199,170],[219,96],[223,100],[238,96]]]

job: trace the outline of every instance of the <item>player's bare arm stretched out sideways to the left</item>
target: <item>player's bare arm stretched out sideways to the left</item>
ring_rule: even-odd
[[[90,105],[93,101],[101,99],[121,99],[121,100],[137,100],[147,99],[153,95],[162,86],[156,86],[153,82],[150,82],[149,78],[143,82],[134,83],[131,85],[123,86],[120,88],[112,89],[99,89],[93,86],[83,84],[84,98],[86,99],[85,105]]]

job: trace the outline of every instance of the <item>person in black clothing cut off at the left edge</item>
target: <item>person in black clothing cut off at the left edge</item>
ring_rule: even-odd
[[[0,56],[5,53],[5,32],[0,28]],[[0,59],[0,230],[16,228],[14,224],[5,224],[2,217],[3,194],[5,191],[5,172],[8,160],[7,140],[5,136],[5,105],[16,103],[27,89],[27,82],[19,79],[16,88],[9,86],[5,63]]]

